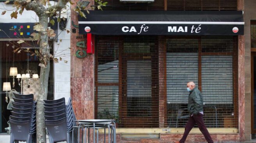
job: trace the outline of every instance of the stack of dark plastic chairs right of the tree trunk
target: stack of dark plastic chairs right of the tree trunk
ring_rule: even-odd
[[[72,142],[72,129],[76,126],[75,114],[69,98],[65,105],[65,98],[44,100],[45,126],[49,133],[50,143]]]

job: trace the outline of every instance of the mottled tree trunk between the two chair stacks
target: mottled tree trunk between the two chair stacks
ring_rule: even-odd
[[[39,16],[39,23],[43,25],[44,29],[46,30],[48,27],[48,16],[42,14]],[[46,31],[44,31],[46,32]],[[43,42],[48,43],[48,36],[47,34],[43,34],[41,32],[41,39],[40,43],[42,45]],[[42,54],[50,55],[50,47],[47,45],[42,47],[40,45],[40,50]],[[37,106],[36,106],[36,140],[37,143],[46,143],[46,130],[44,124],[44,101],[47,99],[48,94],[48,78],[50,72],[50,60],[47,58],[48,62],[46,67],[41,67],[40,70],[40,88],[39,88],[39,96],[37,98]],[[42,63],[42,61],[40,61]]]

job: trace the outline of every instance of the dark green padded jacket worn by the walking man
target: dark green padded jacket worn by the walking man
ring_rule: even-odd
[[[203,97],[197,87],[189,91],[188,112],[196,115],[198,112],[203,112]]]

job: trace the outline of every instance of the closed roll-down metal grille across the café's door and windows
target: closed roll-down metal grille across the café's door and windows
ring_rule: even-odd
[[[238,127],[236,37],[96,37],[98,119],[185,127],[189,81],[203,93],[207,127]]]

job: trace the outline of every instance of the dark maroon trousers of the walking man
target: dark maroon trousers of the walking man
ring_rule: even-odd
[[[185,132],[183,134],[183,137],[180,140],[180,143],[185,143],[188,133],[191,131],[191,129],[194,127],[195,124],[197,124],[200,131],[203,133],[206,141],[208,141],[208,143],[213,143],[213,140],[204,125],[203,115],[201,113],[198,113],[197,115],[193,115],[192,117],[191,116],[189,117],[188,122],[185,126]]]

